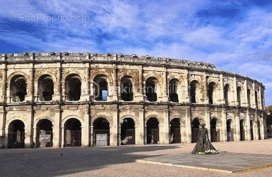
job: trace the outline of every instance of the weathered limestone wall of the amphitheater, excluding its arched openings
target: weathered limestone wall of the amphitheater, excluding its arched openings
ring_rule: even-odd
[[[39,78],[48,74],[54,83],[52,101],[41,102],[38,95]],[[78,101],[67,100],[65,82],[69,74],[77,74],[81,81],[81,96]],[[23,102],[14,102],[11,95],[11,80],[21,75],[27,84]],[[108,99],[94,99],[94,78],[105,75],[108,84]],[[129,76],[133,85],[133,101],[121,100],[121,79]],[[156,78],[157,101],[146,97],[147,79]],[[169,83],[177,79],[178,103],[169,98]],[[196,103],[190,103],[190,83],[197,81]],[[215,83],[213,104],[209,104],[208,85]],[[229,85],[228,103],[224,87]],[[241,106],[237,98],[241,87]],[[253,121],[254,139],[258,139],[258,121],[261,139],[266,138],[264,112],[264,86],[256,80],[235,73],[219,71],[212,64],[190,62],[169,58],[115,54],[2,54],[0,60],[0,146],[7,147],[9,125],[13,120],[24,123],[26,146],[36,139],[37,123],[48,119],[53,124],[53,146],[64,146],[64,126],[70,118],[81,122],[82,145],[93,145],[93,122],[105,118],[110,124],[110,145],[120,145],[120,124],[125,118],[135,123],[136,144],[146,144],[146,122],[155,117],[159,122],[159,143],[170,143],[170,122],[180,121],[181,142],[191,142],[191,122],[210,123],[216,118],[216,130],[220,141],[227,141],[227,121],[231,119],[234,141],[240,140],[240,120],[243,120],[245,140],[251,139]],[[248,91],[250,98],[248,99]],[[255,94],[257,93],[257,100]],[[209,135],[210,136],[210,135]]]

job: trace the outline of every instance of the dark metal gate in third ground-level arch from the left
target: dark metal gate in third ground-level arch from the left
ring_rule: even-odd
[[[64,147],[81,146],[81,130],[66,130],[64,132]]]

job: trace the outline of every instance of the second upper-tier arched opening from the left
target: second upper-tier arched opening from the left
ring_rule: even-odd
[[[51,75],[44,74],[38,80],[38,95],[41,101],[51,101],[54,94],[54,82]]]

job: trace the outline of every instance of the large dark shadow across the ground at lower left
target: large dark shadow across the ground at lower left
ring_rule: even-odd
[[[135,162],[150,156],[131,153],[177,148],[147,145],[117,147],[74,147],[2,149],[0,175],[63,175],[103,168],[112,164]]]

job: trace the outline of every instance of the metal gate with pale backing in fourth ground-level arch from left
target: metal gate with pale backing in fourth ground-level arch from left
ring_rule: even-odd
[[[109,146],[110,145],[110,130],[94,130],[93,131],[94,146]]]

